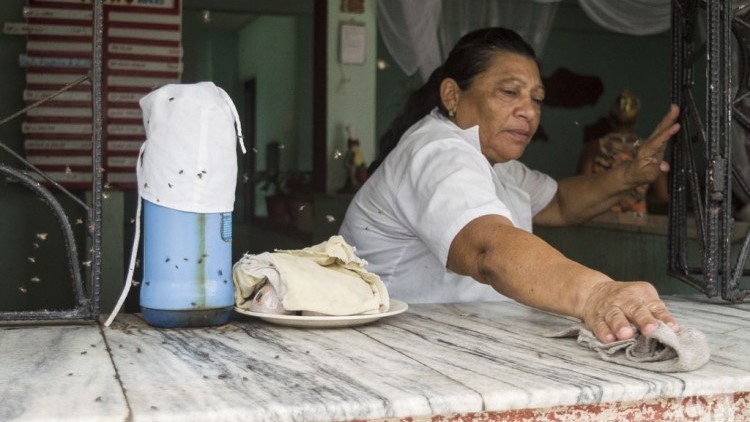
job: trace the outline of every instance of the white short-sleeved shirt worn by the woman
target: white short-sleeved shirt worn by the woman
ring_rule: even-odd
[[[453,238],[489,214],[531,232],[557,191],[518,161],[490,165],[477,126],[463,130],[436,110],[414,124],[354,196],[339,233],[391,297],[408,303],[497,301],[492,287],[446,268]]]

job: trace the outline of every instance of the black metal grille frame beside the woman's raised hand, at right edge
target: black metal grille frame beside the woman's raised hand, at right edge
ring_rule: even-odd
[[[720,294],[729,302],[741,302],[750,297],[750,291],[740,283],[750,250],[750,232],[745,234],[732,267],[733,3],[672,2],[672,97],[681,108],[682,130],[671,150],[668,273],[708,297]],[[696,37],[701,12],[706,16],[705,42]],[[705,69],[701,65],[704,57]],[[705,120],[693,93],[696,70],[706,71]],[[695,142],[703,151],[696,150]],[[699,159],[705,162],[700,163]],[[699,174],[704,175],[703,180]],[[690,220],[694,220],[698,234],[701,267],[691,266],[688,259]]]

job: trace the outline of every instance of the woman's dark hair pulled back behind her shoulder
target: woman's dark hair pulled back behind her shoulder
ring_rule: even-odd
[[[380,137],[378,157],[370,164],[367,173],[374,173],[388,153],[396,147],[404,132],[433,108],[437,107],[441,113],[448,115],[448,110],[440,100],[440,83],[443,79],[451,78],[462,90],[466,90],[476,75],[487,70],[493,55],[502,51],[520,54],[536,61],[534,49],[510,29],[477,29],[461,37],[445,63],[435,69],[427,82],[409,96],[401,114],[393,119],[388,130]]]

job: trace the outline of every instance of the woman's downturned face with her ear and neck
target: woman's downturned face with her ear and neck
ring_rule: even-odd
[[[523,154],[539,127],[544,86],[533,59],[498,52],[456,97],[455,123],[463,129],[478,125],[482,154],[496,164]]]

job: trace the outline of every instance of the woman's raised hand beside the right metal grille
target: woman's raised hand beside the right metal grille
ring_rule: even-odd
[[[662,173],[669,171],[669,163],[664,161],[664,151],[667,142],[680,130],[677,118],[680,109],[672,104],[667,114],[661,119],[656,128],[643,143],[638,147],[633,161],[627,163],[625,170],[626,182],[633,186],[649,184]]]

